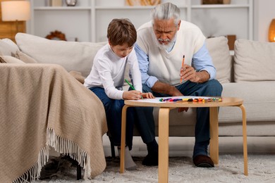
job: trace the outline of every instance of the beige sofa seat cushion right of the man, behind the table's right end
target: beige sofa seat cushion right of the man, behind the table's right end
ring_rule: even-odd
[[[275,81],[224,83],[221,96],[243,99],[247,122],[274,122],[275,113]],[[219,123],[240,122],[240,108],[219,108]],[[260,130],[260,129],[259,129]]]

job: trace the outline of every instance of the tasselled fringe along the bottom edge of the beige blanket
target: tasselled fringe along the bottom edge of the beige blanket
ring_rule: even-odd
[[[79,165],[83,168],[83,170],[85,170],[83,179],[90,178],[90,156],[87,152],[80,149],[78,144],[75,144],[73,141],[56,135],[53,129],[47,128],[46,146],[39,151],[37,162],[13,182],[34,182],[35,179],[38,179],[40,177],[42,167],[46,165],[49,160],[49,150],[51,147],[53,147],[57,152],[64,153],[74,160],[77,160]]]

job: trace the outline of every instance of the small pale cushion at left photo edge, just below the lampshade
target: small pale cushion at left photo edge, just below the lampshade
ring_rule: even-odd
[[[18,49],[11,39],[0,39],[0,56],[15,56]]]

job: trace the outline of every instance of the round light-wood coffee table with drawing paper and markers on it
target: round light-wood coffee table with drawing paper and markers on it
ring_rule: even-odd
[[[174,97],[178,98],[178,97]],[[222,101],[209,102],[161,102],[161,98],[142,99],[138,101],[124,101],[121,120],[121,170],[125,169],[125,144],[126,144],[126,111],[128,107],[159,107],[159,182],[169,182],[169,112],[173,108],[209,108],[210,111],[210,157],[214,164],[219,164],[219,121],[218,108],[224,106],[239,107],[243,115],[243,160],[244,175],[248,175],[247,170],[247,133],[246,133],[246,113],[243,106],[243,99],[233,97],[223,97]],[[183,119],[184,120],[184,119]]]

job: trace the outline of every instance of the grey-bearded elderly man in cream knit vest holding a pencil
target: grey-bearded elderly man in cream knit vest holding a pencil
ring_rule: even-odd
[[[143,92],[154,96],[221,96],[221,84],[214,80],[216,69],[205,45],[202,31],[194,24],[180,20],[180,9],[171,3],[159,4],[152,10],[152,21],[138,29],[135,45]],[[183,64],[184,56],[184,64]],[[183,64],[183,65],[182,65]],[[139,113],[139,108],[136,109]],[[178,112],[188,108],[178,108]],[[139,115],[142,140],[154,139],[152,108]],[[146,138],[147,137],[147,138]],[[208,156],[209,108],[197,108],[193,163],[198,167],[214,167]],[[143,165],[157,165],[157,142],[150,148]],[[154,148],[152,148],[154,147]]]

